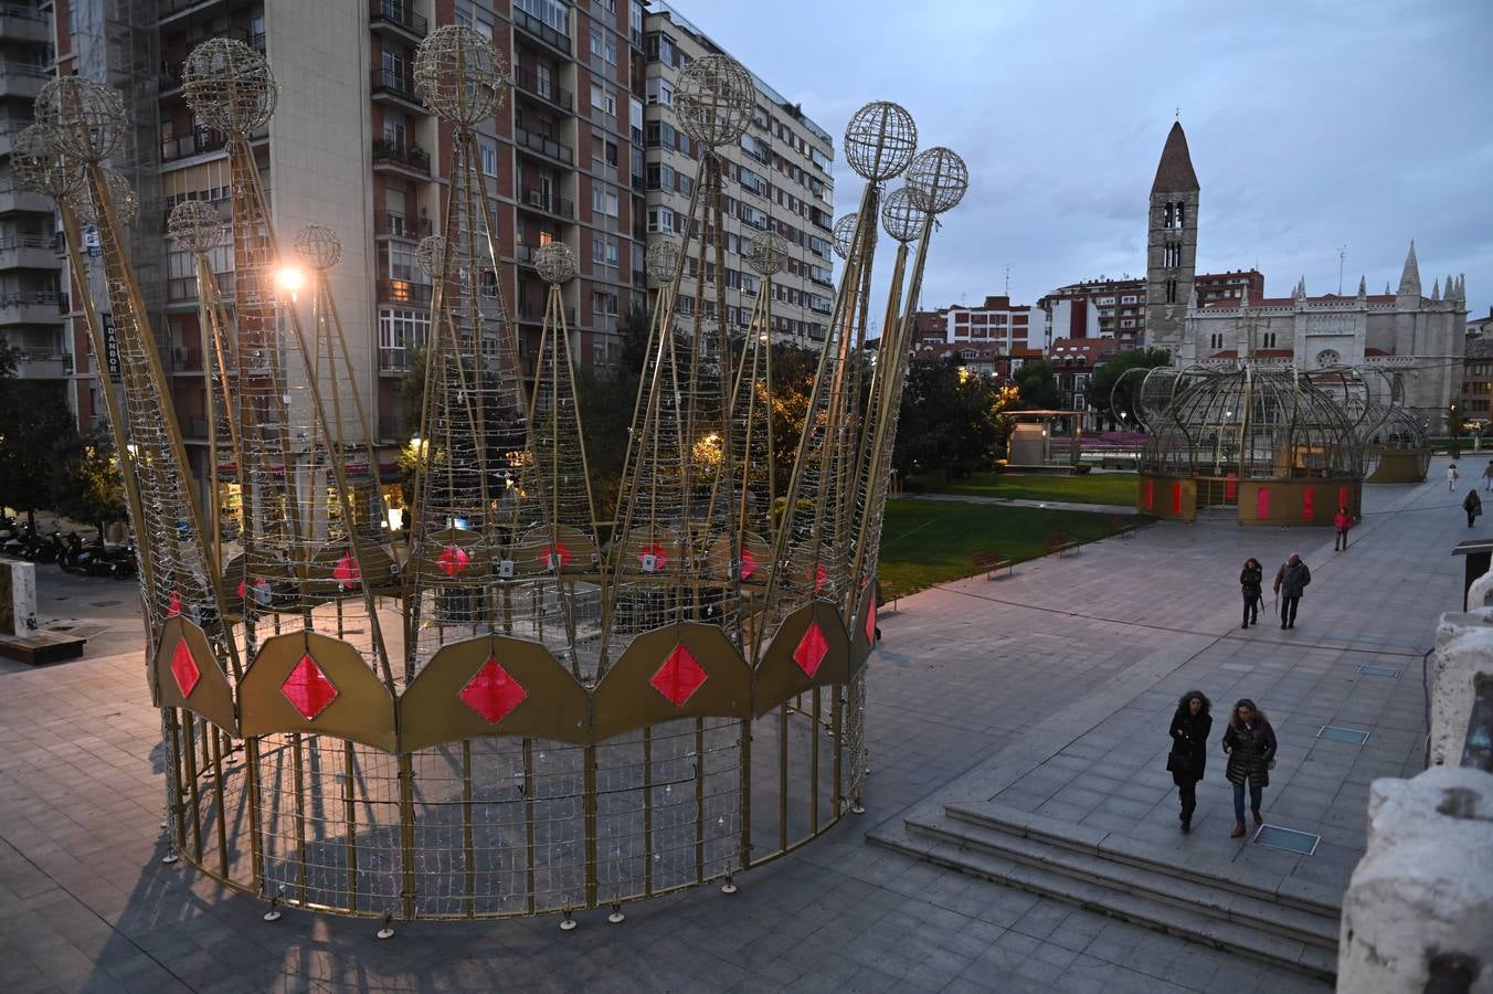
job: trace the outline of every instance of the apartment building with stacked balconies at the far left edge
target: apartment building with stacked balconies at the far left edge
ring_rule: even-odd
[[[10,172],[10,143],[31,124],[31,101],[51,75],[49,6],[0,6],[0,342],[19,349],[21,376],[61,388],[72,357],[63,342],[67,297],[60,290],[52,203],[19,190]]]

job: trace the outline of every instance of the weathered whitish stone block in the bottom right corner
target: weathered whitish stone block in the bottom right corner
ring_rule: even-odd
[[[1342,900],[1338,990],[1418,994],[1432,957],[1493,991],[1493,775],[1432,767],[1375,781],[1368,852]]]

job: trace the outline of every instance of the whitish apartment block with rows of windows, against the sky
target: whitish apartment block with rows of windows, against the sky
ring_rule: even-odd
[[[700,149],[673,127],[673,91],[679,72],[691,60],[723,52],[703,31],[663,0],[652,0],[643,16],[643,188],[646,236],[675,237],[690,213],[690,196]],[[751,67],[748,66],[748,70]],[[752,122],[733,148],[720,149],[724,167],[726,272],[705,261],[705,315],[715,313],[715,281],[726,281],[729,327],[751,318],[761,278],[744,260],[751,239],[776,231],[790,246],[787,269],[772,279],[772,321],[776,340],[806,348],[823,343],[835,298],[832,242],[835,187],[830,167],[835,143],[796,103],[755,75],[757,107]],[[640,266],[638,266],[640,269]],[[700,254],[696,245],[685,261],[676,316],[690,321]]]

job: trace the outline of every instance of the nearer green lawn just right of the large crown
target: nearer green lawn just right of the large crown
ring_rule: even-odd
[[[1088,542],[1114,534],[1129,522],[1117,524],[1108,515],[1082,510],[890,500],[881,528],[878,576],[884,587],[911,594],[972,575],[975,552],[994,551],[1020,563],[1047,554],[1050,531],[1066,531]]]

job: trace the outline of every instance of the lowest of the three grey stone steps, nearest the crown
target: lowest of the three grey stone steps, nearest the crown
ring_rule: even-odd
[[[942,821],[945,830],[950,825],[954,825],[951,819]],[[959,828],[954,831],[957,833]],[[944,840],[927,827],[914,825],[911,821],[903,831],[869,833],[867,839],[935,866],[1014,887],[1039,897],[1060,900],[1084,910],[1129,921],[1214,949],[1285,967],[1315,979],[1332,981],[1336,976],[1338,954],[1335,949],[1329,951],[1297,939],[1265,933],[1227,918],[1214,918],[1197,907],[1184,907],[1159,897],[1069,876],[1051,866],[1035,866],[1011,855],[997,854],[985,846]]]

